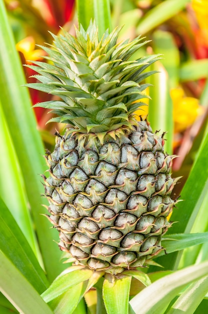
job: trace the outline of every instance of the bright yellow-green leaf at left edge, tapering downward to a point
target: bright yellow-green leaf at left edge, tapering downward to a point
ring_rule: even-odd
[[[28,209],[23,177],[1,104],[0,146],[0,197],[12,212],[13,217],[37,256],[38,246]],[[3,209],[0,208],[0,214],[2,211]]]

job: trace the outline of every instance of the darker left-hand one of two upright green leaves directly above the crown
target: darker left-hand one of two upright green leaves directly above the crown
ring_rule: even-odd
[[[94,19],[93,0],[76,0],[76,12],[78,23],[86,30],[90,20]]]

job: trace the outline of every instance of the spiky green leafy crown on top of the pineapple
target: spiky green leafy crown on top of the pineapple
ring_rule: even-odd
[[[61,99],[35,105],[57,115],[49,121],[69,123],[71,132],[79,134],[119,136],[137,123],[133,113],[143,105],[140,99],[148,97],[142,94],[149,86],[144,79],[155,73],[144,70],[159,56],[130,60],[148,41],[139,36],[117,43],[120,28],[110,34],[106,31],[100,40],[95,23],[86,31],[80,25],[75,32],[76,37],[63,30],[59,36],[51,34],[54,45],[40,46],[49,63],[27,65],[38,73],[32,77],[41,83],[26,86]]]

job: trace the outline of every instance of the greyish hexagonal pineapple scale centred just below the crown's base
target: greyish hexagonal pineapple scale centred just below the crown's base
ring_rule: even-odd
[[[99,159],[117,166],[120,163],[120,147],[113,142],[109,142],[100,147]]]

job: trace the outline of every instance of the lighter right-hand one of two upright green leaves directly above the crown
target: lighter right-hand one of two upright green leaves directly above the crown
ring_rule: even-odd
[[[93,0],[93,3],[95,23],[98,27],[99,38],[101,38],[107,29],[109,33],[112,29],[110,19],[110,2],[109,0]]]

